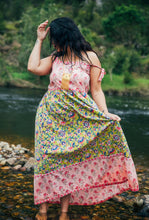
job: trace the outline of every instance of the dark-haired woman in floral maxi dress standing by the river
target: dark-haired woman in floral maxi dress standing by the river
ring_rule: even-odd
[[[138,181],[121,119],[106,106],[96,53],[71,19],[47,25],[39,25],[28,61],[34,74],[51,73],[36,114],[34,199],[37,219],[46,219],[47,203],[61,203],[59,219],[67,220],[69,204],[98,204],[137,191]],[[48,33],[56,50],[40,59]]]

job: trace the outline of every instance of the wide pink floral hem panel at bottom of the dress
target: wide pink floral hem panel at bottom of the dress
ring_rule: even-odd
[[[138,191],[131,157],[124,154],[100,156],[68,167],[34,176],[35,204],[60,203],[71,194],[71,205],[95,205],[126,190]]]

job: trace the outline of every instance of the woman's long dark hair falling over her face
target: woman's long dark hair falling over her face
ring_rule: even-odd
[[[93,51],[91,45],[85,40],[77,25],[67,17],[61,17],[53,20],[50,23],[50,47],[52,44],[55,47],[60,48],[60,51],[53,53],[53,61],[56,57],[61,57],[64,62],[64,56],[68,55],[68,48],[71,51],[71,62],[72,54],[75,58],[78,57],[81,60],[90,61],[87,51]],[[84,52],[88,59],[82,56]]]

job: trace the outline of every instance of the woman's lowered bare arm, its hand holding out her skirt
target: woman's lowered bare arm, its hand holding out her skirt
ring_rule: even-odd
[[[115,114],[111,114],[108,111],[108,108],[106,105],[105,95],[104,95],[102,88],[101,88],[101,81],[99,81],[99,77],[101,74],[100,61],[94,52],[89,52],[88,55],[89,55],[89,58],[93,64],[93,66],[91,66],[91,70],[90,70],[90,77],[91,77],[91,84],[90,85],[91,85],[91,94],[92,94],[93,100],[97,104],[99,110],[101,112],[103,112],[106,116],[108,116],[109,118],[111,118],[113,120],[120,121],[121,119],[119,116],[117,116]]]

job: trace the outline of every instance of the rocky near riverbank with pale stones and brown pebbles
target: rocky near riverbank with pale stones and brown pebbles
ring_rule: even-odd
[[[26,161],[29,161],[31,156],[33,158],[33,152],[21,147],[21,144],[14,145],[3,141],[0,141],[0,152],[2,157],[7,160],[7,166],[6,163],[0,165],[0,219],[33,220],[38,212],[38,206],[35,206],[33,202],[33,169],[28,170],[27,168],[23,170],[21,167],[26,165],[20,165],[20,168],[15,169],[15,163],[18,159],[27,164]],[[24,158],[26,158],[26,161],[24,161]],[[138,192],[127,191],[95,206],[70,206],[69,214],[71,219],[145,220],[146,217],[149,217],[149,169],[136,165],[136,170],[140,187]],[[56,220],[59,211],[59,205],[49,204],[49,219]]]

